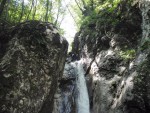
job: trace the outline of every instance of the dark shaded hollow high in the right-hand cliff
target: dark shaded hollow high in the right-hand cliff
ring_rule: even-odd
[[[137,5],[130,7],[129,11],[124,11],[118,16],[119,22],[115,25],[114,32],[126,36],[126,38],[135,46],[142,34],[141,10]],[[121,17],[124,15],[123,17]]]

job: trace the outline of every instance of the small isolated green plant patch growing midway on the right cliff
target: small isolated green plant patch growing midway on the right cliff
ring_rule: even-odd
[[[134,49],[120,51],[119,55],[125,60],[131,60],[135,58],[136,51]]]

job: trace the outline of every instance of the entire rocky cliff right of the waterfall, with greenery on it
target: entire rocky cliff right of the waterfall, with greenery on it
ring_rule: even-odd
[[[111,12],[109,12],[111,10]],[[150,2],[122,0],[81,26],[91,113],[150,113]]]

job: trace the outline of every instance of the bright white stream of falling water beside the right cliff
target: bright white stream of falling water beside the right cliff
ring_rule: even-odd
[[[78,96],[77,96],[77,113],[90,113],[89,110],[89,97],[88,97],[88,91],[86,86],[86,81],[84,77],[84,70],[83,70],[83,64],[82,61],[77,62],[77,90],[78,90]]]

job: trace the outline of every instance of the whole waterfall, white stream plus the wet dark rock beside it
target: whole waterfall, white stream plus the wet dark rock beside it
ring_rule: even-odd
[[[84,74],[81,60],[66,63],[52,113],[90,113]]]

